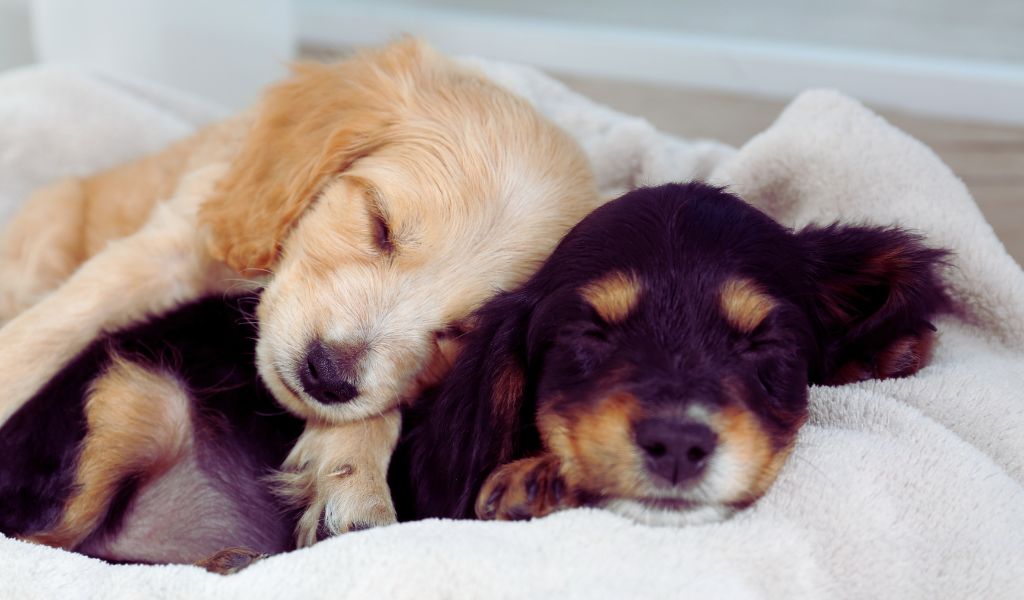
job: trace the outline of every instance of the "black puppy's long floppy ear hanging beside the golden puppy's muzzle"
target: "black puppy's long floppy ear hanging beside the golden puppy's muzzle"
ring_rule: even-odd
[[[522,449],[536,403],[527,377],[532,306],[524,291],[483,306],[449,376],[407,417],[402,449],[418,518],[472,518],[483,480]]]

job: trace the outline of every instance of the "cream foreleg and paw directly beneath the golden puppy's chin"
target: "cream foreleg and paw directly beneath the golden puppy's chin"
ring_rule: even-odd
[[[400,428],[397,410],[353,423],[306,426],[275,478],[282,496],[303,509],[299,546],[395,522],[387,469]]]

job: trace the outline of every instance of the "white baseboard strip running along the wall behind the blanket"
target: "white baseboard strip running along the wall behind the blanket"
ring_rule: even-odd
[[[793,5],[795,0],[788,2]],[[458,3],[296,0],[296,26],[301,40],[318,44],[380,44],[411,33],[450,52],[592,77],[778,98],[792,97],[807,88],[829,87],[912,113],[1024,124],[1024,65],[449,6]],[[507,0],[485,2],[489,6],[496,3],[514,5]],[[538,2],[530,0],[528,4]],[[615,4],[636,11],[649,8],[636,1]],[[657,14],[648,16],[656,18]]]

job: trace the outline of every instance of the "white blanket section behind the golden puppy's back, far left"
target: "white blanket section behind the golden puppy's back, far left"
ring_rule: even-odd
[[[223,116],[156,84],[60,66],[0,77],[0,222],[35,188],[156,152]]]

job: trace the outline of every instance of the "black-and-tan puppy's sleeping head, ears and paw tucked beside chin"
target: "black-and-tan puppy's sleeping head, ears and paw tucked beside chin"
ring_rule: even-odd
[[[401,516],[725,518],[775,480],[809,384],[926,365],[944,254],[898,228],[794,232],[699,183],[610,202],[479,311],[407,416]]]

